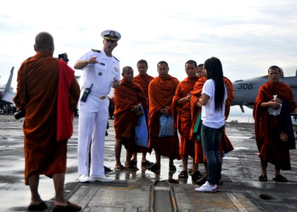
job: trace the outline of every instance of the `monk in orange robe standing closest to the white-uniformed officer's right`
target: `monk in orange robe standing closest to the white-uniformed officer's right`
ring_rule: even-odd
[[[125,66],[122,69],[122,81],[120,88],[115,89],[115,170],[122,170],[120,154],[122,144],[127,150],[124,168],[129,171],[137,171],[138,168],[131,164],[132,154],[137,152],[135,144],[135,126],[141,115],[141,106],[148,105],[144,91],[138,83],[133,80],[134,71],[132,67]]]

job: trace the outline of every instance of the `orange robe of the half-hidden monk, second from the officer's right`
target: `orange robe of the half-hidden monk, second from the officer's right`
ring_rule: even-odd
[[[149,75],[137,75],[133,78],[134,82],[139,83],[139,86],[144,90],[144,96],[148,99],[148,84],[153,80],[153,76]],[[149,100],[148,100],[149,102]],[[144,108],[146,113],[146,124],[148,125],[148,107]],[[139,152],[141,153],[151,153],[152,148],[140,147]]]

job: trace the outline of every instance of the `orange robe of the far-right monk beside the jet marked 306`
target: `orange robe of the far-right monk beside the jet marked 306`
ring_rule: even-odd
[[[268,81],[260,87],[253,110],[255,136],[257,148],[260,152],[259,157],[266,162],[274,164],[281,170],[291,170],[289,149],[279,148],[276,143],[276,136],[272,136],[274,131],[278,131],[279,126],[277,124],[283,118],[284,112],[275,117],[268,114],[267,107],[260,107],[262,102],[272,100],[274,98],[273,95],[277,95],[278,98],[289,103],[288,111],[284,112],[290,113],[296,109],[292,90],[285,83],[271,83]],[[284,107],[281,110],[285,110]]]

